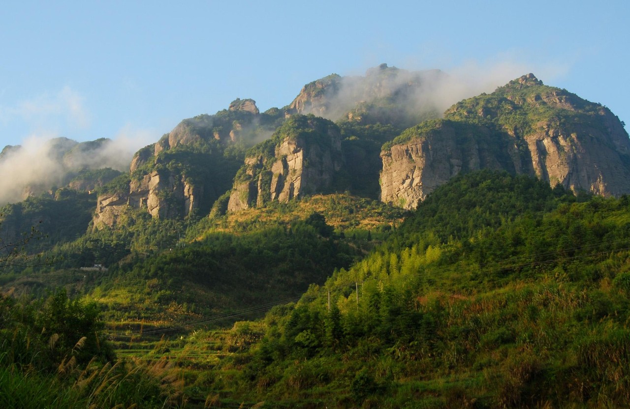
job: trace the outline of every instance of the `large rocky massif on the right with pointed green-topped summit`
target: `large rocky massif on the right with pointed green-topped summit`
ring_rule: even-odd
[[[382,201],[415,208],[458,172],[482,167],[535,175],[573,191],[630,192],[630,139],[619,119],[532,74],[455,104],[445,118],[448,123],[425,123],[384,146]],[[466,134],[455,123],[480,128]]]

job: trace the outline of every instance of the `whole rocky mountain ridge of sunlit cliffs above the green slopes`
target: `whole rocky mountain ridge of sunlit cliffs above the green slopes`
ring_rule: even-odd
[[[408,110],[419,107],[410,98],[444,75],[381,64],[364,77],[332,74],[306,84],[280,109],[261,113],[253,99],[237,98],[215,115],[182,120],[138,150],[127,176],[106,186],[100,186],[105,179],[68,186],[96,188],[93,230],[124,227],[118,220],[129,220],[129,210],[182,220],[321,193],[380,198],[410,210],[450,177],[484,168],[529,174],[573,191],[630,192],[630,138],[619,119],[533,74],[455,103],[442,119],[402,128],[417,118]],[[336,123],[302,115],[318,106],[331,114],[336,103],[350,109]],[[428,111],[421,115],[431,118]],[[399,123],[401,115],[406,119]],[[302,136],[280,136],[283,126]],[[99,141],[73,149],[90,150]],[[0,158],[16,149],[5,148]]]

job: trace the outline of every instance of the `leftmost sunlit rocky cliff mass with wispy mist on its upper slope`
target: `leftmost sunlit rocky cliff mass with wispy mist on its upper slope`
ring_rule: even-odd
[[[209,211],[232,186],[243,163],[236,142],[252,145],[272,133],[282,114],[260,114],[253,99],[236,99],[216,115],[181,121],[158,142],[140,149],[130,165],[130,180],[98,198],[95,228],[113,227],[129,209],[154,218],[185,217]]]

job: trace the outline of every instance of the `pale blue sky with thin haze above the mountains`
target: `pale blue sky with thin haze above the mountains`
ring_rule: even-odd
[[[533,72],[630,124],[630,2],[20,1],[0,11],[0,150],[28,138],[122,138],[381,63],[487,92]],[[472,96],[472,95],[471,95]],[[453,101],[456,102],[456,101]]]

